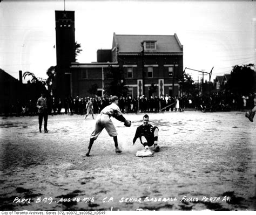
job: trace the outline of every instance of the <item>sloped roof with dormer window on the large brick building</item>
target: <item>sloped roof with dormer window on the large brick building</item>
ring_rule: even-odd
[[[174,35],[128,35],[128,34],[113,34],[112,48],[118,48],[118,53],[138,53],[142,52],[143,41],[156,41],[156,50],[150,50],[146,52],[150,53],[174,53],[182,54],[183,45],[177,37]]]

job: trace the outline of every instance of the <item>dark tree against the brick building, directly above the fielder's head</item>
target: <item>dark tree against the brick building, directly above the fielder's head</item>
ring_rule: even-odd
[[[107,95],[117,95],[118,97],[127,95],[128,88],[125,86],[124,72],[122,69],[109,66],[106,77],[112,80],[105,87],[105,93]]]

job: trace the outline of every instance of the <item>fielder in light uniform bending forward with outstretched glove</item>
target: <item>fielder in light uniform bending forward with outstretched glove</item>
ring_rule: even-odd
[[[90,156],[92,144],[98,138],[99,134],[102,132],[104,128],[106,129],[109,136],[113,137],[114,147],[116,147],[116,153],[122,152],[122,150],[118,148],[117,130],[114,127],[114,124],[111,120],[111,116],[113,116],[120,122],[124,122],[124,125],[126,127],[131,126],[131,121],[126,120],[125,117],[122,115],[122,112],[118,107],[119,101],[116,95],[112,96],[110,101],[111,101],[111,104],[103,108],[103,110],[96,117],[95,130],[92,131],[92,134],[90,136],[88,151],[85,154],[86,156]]]

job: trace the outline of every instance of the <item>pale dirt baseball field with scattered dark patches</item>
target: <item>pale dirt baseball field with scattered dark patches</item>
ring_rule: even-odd
[[[122,154],[104,130],[85,152],[95,120],[1,117],[0,210],[201,211],[255,210],[255,122],[242,112],[150,113],[160,152],[139,158],[132,145],[143,114],[113,119]]]

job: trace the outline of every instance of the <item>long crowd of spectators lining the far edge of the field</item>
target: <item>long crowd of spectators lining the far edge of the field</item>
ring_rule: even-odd
[[[111,96],[92,98],[93,112],[95,114],[109,105]],[[148,113],[148,112],[182,112],[184,110],[200,110],[203,112],[245,110],[253,107],[254,95],[234,95],[232,93],[212,93],[211,96],[195,95],[195,96],[140,96],[131,98],[131,96],[119,98],[119,107],[123,113]],[[65,98],[63,101],[56,98],[48,98],[49,114],[86,114],[86,103],[90,97],[76,96],[73,98]],[[16,115],[36,115],[36,101],[28,101],[25,104],[17,102]]]

